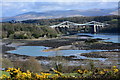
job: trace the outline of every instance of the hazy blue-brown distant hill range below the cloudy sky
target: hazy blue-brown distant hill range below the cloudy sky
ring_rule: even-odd
[[[89,9],[89,10],[56,10],[47,12],[27,12],[19,14],[13,17],[1,18],[3,22],[16,20],[29,20],[29,19],[52,19],[61,17],[74,17],[74,16],[106,16],[106,15],[117,15],[117,9]]]

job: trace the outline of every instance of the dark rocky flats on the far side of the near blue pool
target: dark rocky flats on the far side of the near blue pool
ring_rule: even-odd
[[[77,39],[77,38],[63,38],[50,40],[4,40],[2,45],[2,53],[9,50],[15,50],[18,46],[45,46],[53,49],[65,50],[113,50],[120,49],[120,43],[111,43],[100,41],[100,39]],[[9,41],[9,42],[8,42]],[[18,43],[19,42],[19,43]],[[69,45],[69,46],[68,46]],[[102,57],[102,56],[101,56]]]

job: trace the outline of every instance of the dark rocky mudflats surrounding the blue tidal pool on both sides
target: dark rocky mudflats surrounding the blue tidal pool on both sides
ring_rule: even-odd
[[[72,49],[72,50],[114,50],[120,49],[120,43],[104,42],[101,39],[78,39],[78,38],[60,38],[60,39],[47,39],[47,40],[4,40],[4,45],[2,50],[3,58],[10,59],[11,61],[25,61],[33,56],[19,55],[6,53],[9,50],[15,50],[19,46],[45,46],[52,47],[51,49]],[[69,46],[68,46],[69,45]],[[112,53],[111,53],[112,52]],[[118,51],[119,52],[119,51]],[[83,53],[81,56],[90,57],[90,58],[106,58],[105,61],[91,60],[91,59],[77,59],[77,56],[57,56],[57,57],[43,57],[43,56],[34,56],[40,63],[43,65],[50,65],[52,62],[57,59],[66,60],[69,65],[86,65],[89,62],[94,61],[94,64],[101,66],[101,64],[106,64],[106,66],[112,66],[118,64],[118,57],[113,59],[112,57],[116,56],[117,52],[113,51],[104,51],[96,53]],[[105,55],[107,54],[107,55]],[[114,56],[113,56],[114,55]],[[109,63],[109,64],[108,64]],[[66,65],[66,62],[64,63]],[[99,67],[98,66],[98,67]]]

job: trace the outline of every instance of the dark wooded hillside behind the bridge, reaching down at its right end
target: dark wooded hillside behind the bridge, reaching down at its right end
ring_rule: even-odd
[[[67,17],[67,18],[57,18],[57,19],[40,19],[40,20],[25,20],[23,23],[33,23],[38,25],[56,25],[63,21],[71,21],[75,23],[86,23],[90,21],[97,21],[109,24],[107,27],[101,29],[99,33],[120,33],[120,16],[110,15],[110,16],[92,16],[92,17]],[[65,32],[64,32],[65,33]]]

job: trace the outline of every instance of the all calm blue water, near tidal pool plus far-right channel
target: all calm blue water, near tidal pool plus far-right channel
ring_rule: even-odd
[[[76,35],[90,35],[92,38],[102,38],[108,39],[104,40],[108,42],[120,43],[119,37],[117,34],[89,34],[89,33],[79,33]],[[80,56],[81,53],[90,53],[90,52],[99,52],[99,51],[107,51],[107,50],[59,50],[59,51],[49,51],[43,52],[45,49],[49,49],[50,47],[44,46],[20,46],[16,50],[7,51],[9,53],[21,54],[21,55],[29,55],[29,56],[77,56],[77,59],[93,59],[93,60],[105,60],[105,58],[88,58],[85,56]]]

